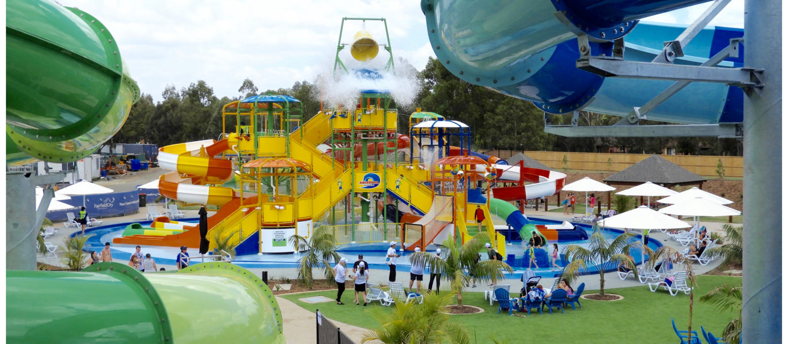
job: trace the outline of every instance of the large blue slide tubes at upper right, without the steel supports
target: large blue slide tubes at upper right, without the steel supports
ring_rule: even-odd
[[[460,79],[533,101],[550,113],[578,108],[627,115],[672,82],[605,79],[575,67],[576,33],[589,36],[593,56],[611,56],[612,40],[626,35],[626,60],[651,61],[683,27],[638,24],[639,19],[708,0],[422,0],[427,34],[438,60]],[[561,19],[563,18],[563,22]],[[727,47],[741,29],[705,27],[675,64],[700,65]],[[743,54],[719,67],[740,67]],[[742,90],[692,82],[649,112],[672,123],[741,123]]]

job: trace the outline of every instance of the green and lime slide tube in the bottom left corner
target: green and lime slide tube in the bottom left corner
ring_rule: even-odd
[[[6,341],[284,343],[276,298],[225,262],[139,273],[120,263],[80,272],[6,271]]]

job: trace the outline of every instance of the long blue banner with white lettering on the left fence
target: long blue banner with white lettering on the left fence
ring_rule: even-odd
[[[102,193],[100,195],[71,196],[71,199],[62,200],[61,202],[74,207],[82,207],[83,197],[85,198],[87,216],[91,218],[110,218],[139,211],[139,190]],[[73,213],[76,216],[79,212],[79,208],[48,211],[46,212],[46,218],[49,218],[50,221],[64,221],[68,218],[67,213]]]

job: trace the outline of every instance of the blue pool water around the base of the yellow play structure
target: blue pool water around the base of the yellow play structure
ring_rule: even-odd
[[[535,224],[545,224],[545,225],[552,225],[555,224],[555,221],[541,221],[537,218],[530,218],[532,223]],[[197,218],[188,218],[183,220],[187,223],[198,223],[199,219]],[[86,230],[86,235],[90,235],[91,237],[88,238],[87,242],[85,243],[85,250],[86,251],[97,251],[100,252],[104,248],[104,243],[110,242],[112,248],[112,255],[113,259],[118,262],[123,262],[128,260],[131,257],[132,252],[136,250],[136,245],[125,245],[125,244],[116,244],[112,243],[112,240],[117,237],[121,237],[124,229],[126,228],[129,223],[122,223],[117,225],[106,225],[96,228],[91,228]],[[143,226],[149,225],[151,222],[139,222]],[[581,225],[589,232],[593,232],[588,225]],[[619,236],[621,231],[616,230],[602,230],[602,235],[606,240],[611,241],[614,240],[616,236]],[[634,240],[641,240],[639,236],[636,236],[632,239]],[[552,252],[552,243],[548,242],[548,247],[545,247],[548,251],[548,255]],[[522,272],[527,268],[527,266],[522,266],[522,257],[525,255],[527,241],[523,242],[522,240],[511,240],[507,242],[506,247],[506,255],[515,255],[514,262],[509,261],[512,266],[512,269],[515,270],[511,276],[518,277]],[[587,240],[562,240],[558,242],[559,253],[563,253],[563,250],[568,246],[576,244],[581,247],[588,247]],[[656,250],[656,248],[660,247],[660,243],[656,240],[649,240],[649,247],[652,250]],[[398,245],[399,248],[399,245]],[[437,248],[436,245],[431,244],[426,247],[426,251],[434,252]],[[358,259],[359,254],[363,254],[364,260],[369,262],[370,265],[374,269],[388,269],[385,265],[385,252],[388,250],[388,242],[381,242],[381,243],[350,243],[346,245],[341,245],[338,253],[341,257],[347,258],[348,262],[355,262]],[[180,250],[178,247],[142,247],[143,254],[151,254],[151,257],[154,258],[157,264],[164,264],[164,265],[175,265],[175,258],[176,255]],[[199,247],[189,247],[188,254],[191,257],[199,256]],[[402,257],[397,258],[397,270],[398,271],[410,271],[411,266],[410,262],[408,262],[407,256],[411,253],[409,252],[401,252]],[[635,262],[637,264],[641,263],[641,252],[639,250],[633,250],[630,254],[635,258]],[[482,259],[487,259],[486,254],[481,254]],[[242,256],[236,256],[233,260],[233,264],[243,266],[244,268],[288,268],[288,267],[295,267],[296,262],[302,257],[302,254],[247,254]],[[508,257],[511,258],[511,257]],[[504,257],[507,259],[507,257]],[[199,262],[199,259],[195,259],[195,262]],[[558,260],[558,265],[562,265],[560,262],[560,257]],[[588,263],[588,262],[587,262]],[[527,260],[526,260],[527,265]],[[550,262],[548,265],[552,265]],[[613,266],[607,267],[606,269],[615,268]],[[533,269],[533,272],[537,274],[537,276],[543,277],[552,277],[556,276],[558,271],[552,271],[554,268],[550,266],[540,266],[539,269]],[[597,270],[595,267],[588,266],[589,271],[586,273],[595,273]]]

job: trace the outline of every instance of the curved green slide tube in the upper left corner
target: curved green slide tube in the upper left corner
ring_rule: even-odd
[[[90,14],[50,0],[6,2],[6,162],[67,163],[121,129],[139,87]]]

